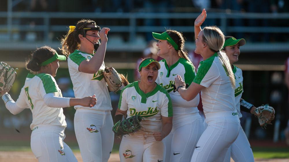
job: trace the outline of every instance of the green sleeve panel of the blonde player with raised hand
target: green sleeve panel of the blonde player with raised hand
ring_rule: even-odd
[[[218,55],[214,54],[210,58],[200,62],[197,75],[195,76],[193,80],[194,83],[201,84],[203,78],[205,77],[209,69],[211,68],[216,56]]]

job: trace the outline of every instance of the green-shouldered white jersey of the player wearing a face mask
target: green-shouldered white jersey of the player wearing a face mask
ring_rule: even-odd
[[[104,62],[95,74],[88,74],[78,71],[80,63],[84,60],[90,60],[94,55],[75,50],[68,57],[68,70],[71,81],[73,83],[73,91],[76,98],[83,98],[95,94],[97,103],[93,107],[74,106],[77,108],[85,108],[90,110],[112,110],[110,95],[106,82],[103,78],[105,68]]]

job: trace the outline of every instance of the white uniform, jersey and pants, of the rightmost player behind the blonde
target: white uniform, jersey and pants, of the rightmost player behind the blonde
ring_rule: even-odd
[[[236,102],[236,110],[238,112],[239,118],[242,118],[242,114],[240,112],[240,99],[242,97],[243,91],[243,75],[242,70],[233,65],[233,73],[236,78],[236,88],[235,88],[235,102]],[[253,162],[254,156],[253,151],[250,146],[250,143],[247,139],[247,136],[240,126],[240,131],[237,139],[228,149],[228,152],[225,156],[224,162],[230,162],[232,159],[235,162]]]

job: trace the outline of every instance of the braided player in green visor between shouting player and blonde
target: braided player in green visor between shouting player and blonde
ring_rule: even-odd
[[[194,148],[204,131],[203,120],[197,108],[199,97],[186,101],[178,92],[173,92],[173,84],[176,75],[180,75],[190,85],[195,78],[194,66],[188,58],[188,52],[184,50],[185,40],[181,33],[167,30],[162,34],[152,34],[159,40],[158,56],[164,58],[160,61],[161,68],[156,82],[170,94],[174,112],[172,131],[164,139],[165,161],[190,162]]]

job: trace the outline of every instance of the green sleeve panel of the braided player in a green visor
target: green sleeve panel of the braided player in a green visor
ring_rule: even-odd
[[[190,63],[188,60],[181,58],[180,59],[180,63],[184,66],[185,68],[185,74],[184,74],[184,79],[185,82],[187,84],[189,84],[189,86],[191,85],[191,83],[193,82],[194,78],[195,78],[195,70],[194,70],[194,66],[192,63]]]

